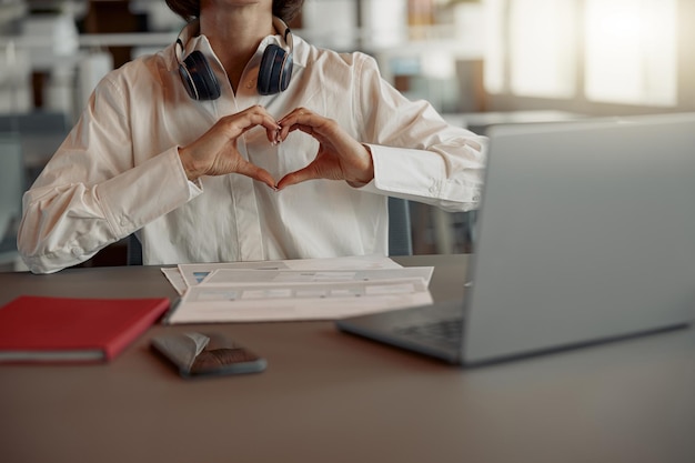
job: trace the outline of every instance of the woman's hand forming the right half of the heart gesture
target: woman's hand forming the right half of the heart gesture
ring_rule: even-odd
[[[290,132],[300,130],[319,141],[316,158],[305,168],[288,173],[278,189],[313,179],[345,180],[353,185],[365,184],[374,178],[370,150],[350,137],[338,122],[298,108],[278,121],[278,134],[284,141]]]

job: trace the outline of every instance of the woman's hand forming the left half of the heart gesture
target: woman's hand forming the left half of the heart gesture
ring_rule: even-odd
[[[201,138],[179,148],[185,174],[191,181],[202,175],[240,173],[275,188],[275,180],[265,169],[246,161],[236,148],[236,140],[256,125],[265,128],[268,141],[278,143],[280,125],[265,108],[254,105],[220,119]]]

